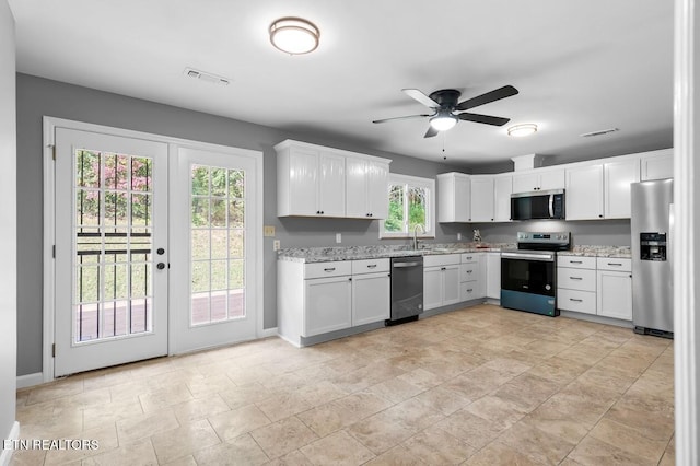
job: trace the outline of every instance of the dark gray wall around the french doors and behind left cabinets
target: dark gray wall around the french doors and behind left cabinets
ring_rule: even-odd
[[[397,154],[368,152],[351,141],[331,136],[285,132],[26,74],[18,74],[16,105],[18,197],[22,202],[18,213],[18,232],[20,232],[18,252],[21,261],[16,268],[19,375],[42,371],[43,116],[262,151],[265,154],[265,224],[276,226],[277,238],[281,241],[282,247],[331,246],[335,245],[337,232],[343,233],[342,245],[369,245],[380,242],[376,221],[278,219],[276,217],[277,159],[272,147],[284,139],[298,139],[386,156],[393,160],[390,165],[393,173],[406,175],[432,177],[438,173],[463,168]],[[466,229],[463,230],[466,231]],[[455,241],[457,231],[460,231],[458,226],[441,225],[438,228],[435,241]],[[383,244],[390,243],[407,242],[383,241]],[[277,325],[277,268],[272,238],[265,238],[262,261],[265,327],[271,328]]]

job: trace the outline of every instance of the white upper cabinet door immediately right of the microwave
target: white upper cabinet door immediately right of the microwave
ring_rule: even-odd
[[[567,168],[567,220],[604,218],[603,164]]]

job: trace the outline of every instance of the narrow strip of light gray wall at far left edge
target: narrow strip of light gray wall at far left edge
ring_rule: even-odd
[[[0,0],[0,439],[9,439],[16,405],[16,128],[14,74],[14,19],[7,0]],[[0,463],[9,453],[0,450]]]

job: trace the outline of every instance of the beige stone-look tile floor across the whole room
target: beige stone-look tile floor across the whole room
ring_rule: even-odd
[[[673,465],[673,345],[481,305],[296,349],[278,338],[18,393],[12,465]]]

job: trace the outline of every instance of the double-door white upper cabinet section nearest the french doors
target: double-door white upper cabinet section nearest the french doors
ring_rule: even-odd
[[[279,217],[345,217],[345,156],[288,141],[276,150]]]

